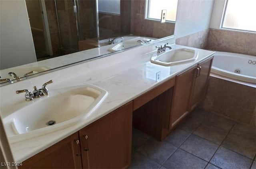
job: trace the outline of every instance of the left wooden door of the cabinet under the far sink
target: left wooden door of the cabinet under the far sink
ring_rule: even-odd
[[[196,67],[193,67],[176,76],[176,82],[172,95],[169,129],[181,121],[190,111],[188,104],[192,84],[195,80],[195,70]]]

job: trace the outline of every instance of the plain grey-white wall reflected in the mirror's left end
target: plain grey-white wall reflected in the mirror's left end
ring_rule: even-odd
[[[25,0],[0,0],[0,69],[36,62]]]

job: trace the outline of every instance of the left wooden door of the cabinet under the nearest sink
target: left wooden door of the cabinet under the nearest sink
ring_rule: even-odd
[[[81,169],[78,133],[74,133],[22,163],[20,169]]]

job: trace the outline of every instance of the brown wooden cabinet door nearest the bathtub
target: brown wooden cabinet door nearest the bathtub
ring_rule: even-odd
[[[205,97],[207,83],[212,67],[212,58],[198,64],[199,72],[194,83],[190,98],[190,111],[194,109]]]

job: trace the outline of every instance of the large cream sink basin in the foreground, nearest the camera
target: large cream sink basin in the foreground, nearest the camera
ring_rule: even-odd
[[[94,85],[52,90],[48,97],[34,99],[3,119],[7,136],[16,142],[69,127],[88,118],[106,95]]]

